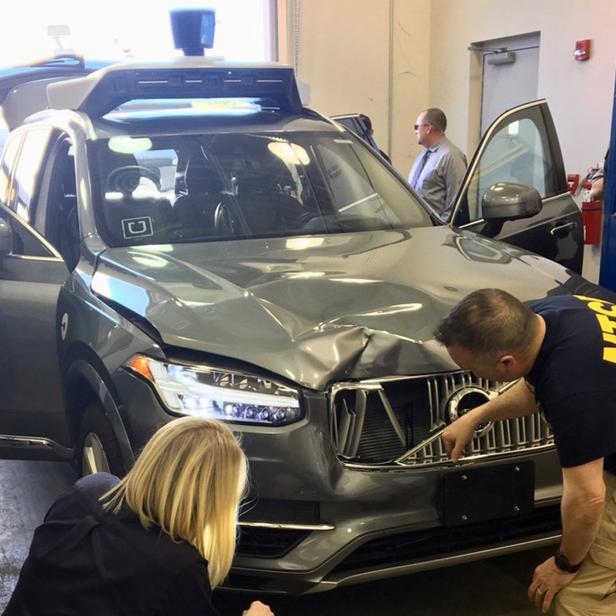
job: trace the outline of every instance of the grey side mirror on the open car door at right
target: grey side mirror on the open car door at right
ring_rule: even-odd
[[[484,220],[529,218],[541,211],[541,195],[532,187],[512,182],[498,182],[481,200]]]

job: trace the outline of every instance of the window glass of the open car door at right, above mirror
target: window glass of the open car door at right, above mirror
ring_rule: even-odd
[[[523,110],[496,127],[481,152],[456,224],[483,217],[482,199],[497,182],[532,186],[542,198],[557,194],[554,161],[539,109]]]

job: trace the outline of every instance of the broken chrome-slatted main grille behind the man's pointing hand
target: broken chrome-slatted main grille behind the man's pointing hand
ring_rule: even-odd
[[[335,385],[331,435],[338,456],[368,466],[434,465],[447,462],[434,438],[459,414],[498,395],[501,384],[468,372]],[[496,422],[480,430],[465,458],[495,456],[551,446],[552,433],[537,413]]]

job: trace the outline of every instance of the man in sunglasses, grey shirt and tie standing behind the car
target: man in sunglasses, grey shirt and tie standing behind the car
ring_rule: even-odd
[[[422,111],[415,123],[417,143],[424,148],[409,174],[411,188],[443,219],[453,207],[466,173],[466,156],[445,136],[447,117],[435,107]]]

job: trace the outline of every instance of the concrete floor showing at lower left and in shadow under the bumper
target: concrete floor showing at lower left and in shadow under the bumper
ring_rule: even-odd
[[[75,479],[68,464],[0,461],[0,611],[32,532]],[[531,616],[526,587],[551,549],[499,557],[304,597],[267,598],[276,616]],[[222,616],[240,616],[253,597],[215,593]],[[254,597],[256,598],[256,597]]]

